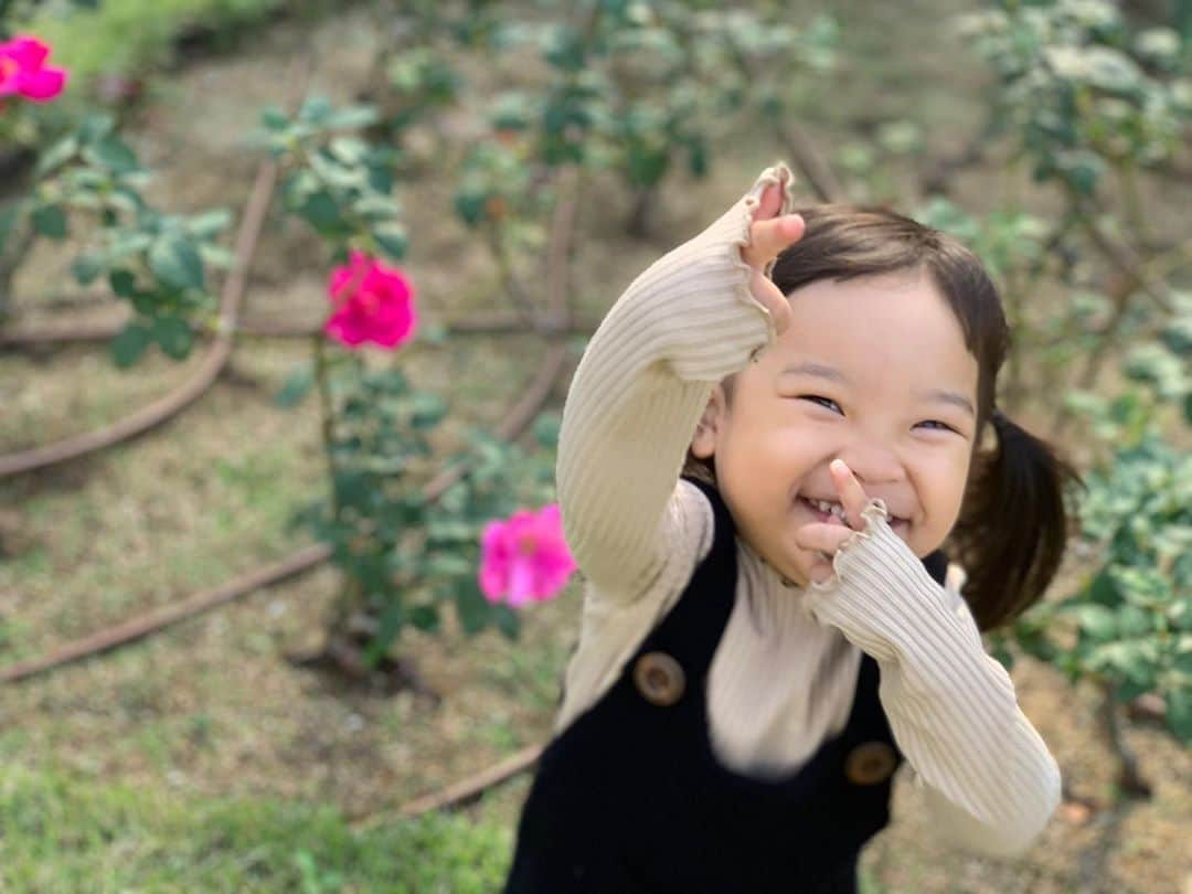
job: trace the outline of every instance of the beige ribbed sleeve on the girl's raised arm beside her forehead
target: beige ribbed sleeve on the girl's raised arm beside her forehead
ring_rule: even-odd
[[[579,569],[615,598],[640,596],[665,564],[668,503],[712,386],[776,337],[740,247],[780,173],[764,170],[724,216],[633,280],[576,370],[559,433],[559,505]]]

